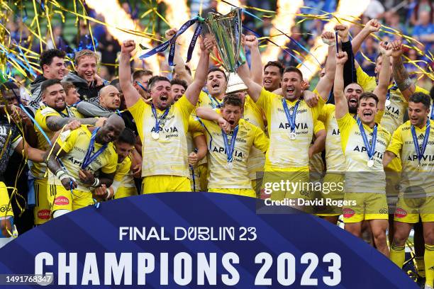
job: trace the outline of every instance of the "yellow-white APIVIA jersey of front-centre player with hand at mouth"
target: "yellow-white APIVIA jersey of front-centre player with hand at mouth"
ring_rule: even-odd
[[[252,188],[247,171],[247,159],[249,159],[252,146],[260,149],[261,152],[267,151],[269,140],[264,132],[255,125],[240,119],[233,151],[233,169],[228,169],[228,158],[221,128],[213,121],[201,121],[208,130],[205,133],[208,145],[211,142],[211,147],[208,147],[208,188]],[[228,138],[230,137],[232,137],[231,133],[228,134]]]

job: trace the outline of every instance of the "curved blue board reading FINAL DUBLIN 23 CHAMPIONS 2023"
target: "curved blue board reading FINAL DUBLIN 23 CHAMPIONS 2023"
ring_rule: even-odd
[[[113,200],[6,244],[0,276],[52,273],[53,288],[417,288],[343,229],[272,209],[262,200],[217,193]]]

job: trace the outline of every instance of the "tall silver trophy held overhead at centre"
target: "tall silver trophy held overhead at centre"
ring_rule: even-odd
[[[221,60],[228,72],[226,94],[247,90],[247,86],[237,74],[238,66],[245,62],[241,48],[241,8],[235,8],[226,15],[209,13],[205,23],[218,50],[218,55],[214,57]]]

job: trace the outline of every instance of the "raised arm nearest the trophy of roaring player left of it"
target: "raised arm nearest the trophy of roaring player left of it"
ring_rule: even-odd
[[[208,72],[209,63],[209,52],[213,49],[213,42],[208,38],[204,38],[200,41],[201,46],[201,57],[199,58],[199,63],[197,64],[196,73],[194,74],[194,80],[191,82],[187,91],[185,91],[185,96],[190,101],[190,103],[196,106],[199,100],[199,94],[201,93],[202,87],[206,83],[206,72]]]

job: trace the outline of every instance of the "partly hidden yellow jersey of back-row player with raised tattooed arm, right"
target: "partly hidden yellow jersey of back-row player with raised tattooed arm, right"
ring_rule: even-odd
[[[372,92],[377,87],[377,82],[375,77],[369,77],[362,67],[357,67],[357,83],[362,86],[364,91]],[[385,128],[390,133],[393,133],[396,128],[399,127],[402,123],[404,123],[404,113],[408,108],[408,103],[404,96],[401,94],[401,91],[394,86],[394,84],[390,84],[390,106],[386,106],[384,111],[384,116],[380,125]],[[420,86],[416,86],[415,92],[423,92],[424,94],[429,94],[428,91],[421,88]]]

